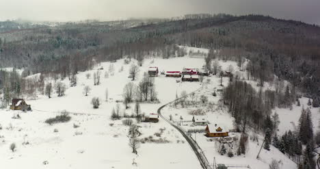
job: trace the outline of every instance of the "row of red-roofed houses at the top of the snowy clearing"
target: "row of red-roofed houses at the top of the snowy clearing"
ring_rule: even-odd
[[[158,76],[159,68],[149,67],[148,74],[150,77]],[[200,74],[197,68],[184,68],[182,71],[161,72],[161,75],[165,75],[165,77],[181,77],[181,81],[199,81]]]

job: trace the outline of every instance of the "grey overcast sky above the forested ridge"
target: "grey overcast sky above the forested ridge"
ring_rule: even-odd
[[[320,25],[320,0],[0,0],[0,20],[110,21],[194,13],[265,14]]]

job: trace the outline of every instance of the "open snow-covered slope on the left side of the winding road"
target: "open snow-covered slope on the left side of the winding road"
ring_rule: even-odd
[[[164,140],[170,143],[141,144],[138,155],[131,153],[128,128],[122,125],[121,120],[110,120],[111,109],[116,106],[116,100],[122,99],[123,88],[131,82],[129,65],[124,65],[123,60],[114,64],[114,75],[105,78],[105,70],[109,72],[110,63],[102,63],[94,70],[89,70],[77,75],[78,83],[75,87],[68,87],[66,95],[57,97],[53,94],[51,99],[38,95],[36,99],[26,99],[33,112],[17,112],[0,110],[0,155],[1,166],[5,168],[44,168],[44,161],[49,164],[45,168],[201,168],[200,163],[185,142],[182,135],[174,130],[165,121],[158,123],[140,123],[142,135],[147,138],[160,132]],[[159,66],[160,70],[182,70],[184,67],[202,68],[204,60],[201,58],[176,57],[170,60],[150,59],[145,60],[140,68],[139,77],[133,81],[138,83],[149,66]],[[123,71],[119,72],[121,66]],[[87,73],[101,71],[101,85],[94,86],[92,77],[87,79]],[[37,78],[34,75],[29,78]],[[54,83],[54,81],[53,81]],[[67,86],[69,82],[64,80]],[[146,114],[157,113],[157,109],[164,103],[175,99],[176,93],[182,90],[192,92],[200,87],[199,82],[176,83],[176,78],[155,77],[156,88],[160,103],[142,103],[142,112]],[[89,96],[84,96],[83,87],[90,86],[92,91]],[[108,88],[109,101],[105,101],[105,90]],[[90,101],[93,96],[98,96],[103,101],[99,109],[93,109]],[[122,109],[123,105],[120,103]],[[133,106],[131,106],[133,107]],[[63,109],[79,114],[70,114],[70,122],[47,125],[44,120],[56,116]],[[126,113],[131,114],[132,109]],[[13,119],[18,114],[21,119]],[[122,112],[123,113],[123,112]],[[111,126],[110,124],[114,124]],[[80,127],[74,128],[73,124]],[[57,129],[58,132],[53,132]],[[3,136],[3,138],[2,138]],[[10,144],[16,143],[16,152],[9,149]],[[29,142],[29,144],[23,144]],[[137,166],[133,166],[133,161]]]

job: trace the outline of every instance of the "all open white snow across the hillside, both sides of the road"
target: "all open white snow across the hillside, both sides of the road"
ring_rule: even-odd
[[[207,53],[208,49],[196,49],[186,47],[187,51],[197,53]],[[109,72],[110,64],[114,64],[114,75],[105,78],[105,71]],[[223,70],[227,70],[229,65],[235,68],[241,79],[245,79],[245,72],[241,72],[236,62],[219,62]],[[139,76],[133,83],[139,83],[143,73],[148,70],[149,66],[158,66],[159,71],[176,71],[183,68],[199,68],[204,65],[204,57],[199,55],[195,57],[174,57],[170,59],[148,58],[144,60],[144,64],[140,67]],[[120,71],[123,66],[123,70]],[[93,78],[87,79],[87,73],[91,75],[98,68],[103,67],[101,71],[101,85],[94,86]],[[18,112],[8,109],[0,109],[0,166],[5,168],[201,168],[200,163],[191,150],[189,144],[185,142],[181,133],[178,133],[173,127],[168,125],[162,119],[158,123],[139,123],[142,135],[139,138],[159,138],[155,133],[163,130],[161,138],[168,140],[169,143],[144,143],[138,148],[138,155],[131,153],[129,147],[128,129],[122,125],[121,120],[111,120],[111,110],[116,107],[116,101],[122,100],[122,92],[126,83],[131,82],[129,76],[130,64],[124,64],[124,60],[118,60],[115,63],[101,63],[93,70],[81,72],[77,75],[78,82],[75,87],[68,87],[66,95],[58,97],[53,94],[51,99],[47,96],[39,94],[36,99],[26,98],[26,102],[31,105],[33,112]],[[38,78],[39,75],[33,75],[27,78]],[[209,105],[196,105],[194,107],[174,107],[168,106],[162,110],[165,117],[172,115],[173,120],[178,122],[181,120],[191,120],[191,110],[202,109],[207,107],[206,119],[211,124],[218,124],[228,129],[233,129],[233,118],[228,114],[224,107],[218,106],[221,93],[217,92],[217,96],[213,96],[213,90],[221,89],[219,86],[220,79],[216,76],[206,77],[204,81],[209,79],[208,85],[200,82],[183,82],[177,83],[176,78],[159,76],[155,77],[156,90],[160,103],[142,103],[140,106],[145,114],[157,113],[157,109],[170,101],[176,99],[176,94],[180,96],[181,92],[193,92],[203,86],[203,89],[196,93],[196,98],[200,95],[206,95]],[[53,81],[51,79],[53,83]],[[224,86],[228,84],[229,79],[223,78]],[[256,81],[248,81],[252,86],[256,85]],[[67,86],[69,81],[64,80]],[[90,86],[92,89],[88,96],[84,96],[83,87]],[[266,83],[265,88],[273,87]],[[105,91],[108,90],[109,99],[105,99]],[[98,96],[102,100],[102,104],[98,109],[93,109],[90,101],[92,97]],[[300,102],[306,107],[306,98],[302,98]],[[124,105],[120,103],[122,114],[124,113]],[[133,105],[131,105],[133,107]],[[209,107],[209,108],[208,108]],[[286,130],[294,130],[297,126],[301,107],[293,105],[293,109],[275,109],[280,117],[279,133]],[[55,125],[47,125],[44,120],[59,114],[62,110],[68,110],[75,114],[70,122],[59,123]],[[314,125],[319,120],[319,109],[311,109]],[[131,114],[133,109],[126,109],[126,114]],[[14,119],[12,116],[19,114],[21,119]],[[79,127],[75,128],[75,125]],[[294,124],[294,125],[293,125]],[[191,125],[186,122],[182,126],[183,129],[192,129]],[[316,129],[317,126],[315,126]],[[57,132],[54,130],[57,129]],[[203,134],[191,135],[204,151],[206,158],[212,164],[213,159],[217,164],[233,164],[233,165],[250,165],[251,168],[269,168],[272,159],[282,162],[283,168],[297,168],[297,166],[280,153],[276,148],[271,146],[271,151],[261,151],[260,159],[256,159],[256,155],[261,148],[263,137],[259,135],[258,142],[250,140],[248,142],[248,150],[245,155],[227,157],[217,153],[215,142],[209,141]],[[239,137],[239,133],[230,133],[230,137]],[[25,143],[29,144],[25,144]],[[10,151],[10,144],[16,143],[16,151]],[[44,165],[43,162],[48,164]],[[137,165],[133,165],[133,162]]]

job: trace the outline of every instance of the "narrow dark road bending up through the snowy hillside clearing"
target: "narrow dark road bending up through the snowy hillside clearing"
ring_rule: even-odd
[[[193,94],[195,92],[198,92],[199,90],[202,90],[202,88],[199,88],[198,90],[191,92],[190,94]],[[178,101],[180,100],[176,99],[174,101]],[[173,103],[174,101],[171,101],[170,103]],[[174,129],[178,130],[183,137],[185,138],[185,140],[187,140],[187,142],[189,143],[189,145],[191,146],[192,150],[194,151],[194,153],[196,154],[196,156],[198,157],[198,160],[200,161],[200,164],[202,166],[203,169],[211,169],[211,166],[209,166],[208,161],[206,160],[206,157],[204,157],[203,153],[200,153],[200,149],[197,147],[197,145],[195,144],[195,142],[193,140],[191,140],[191,138],[185,133],[185,131],[183,131],[180,127],[174,125],[174,123],[170,120],[168,120],[167,118],[165,118],[162,114],[161,114],[161,109],[163,109],[163,107],[170,105],[170,103],[167,103],[165,105],[162,105],[161,107],[159,107],[158,109],[158,114],[159,116],[161,116],[161,118],[163,118],[163,120],[165,120],[166,122],[168,122],[170,125],[172,125],[172,127],[174,127]]]

